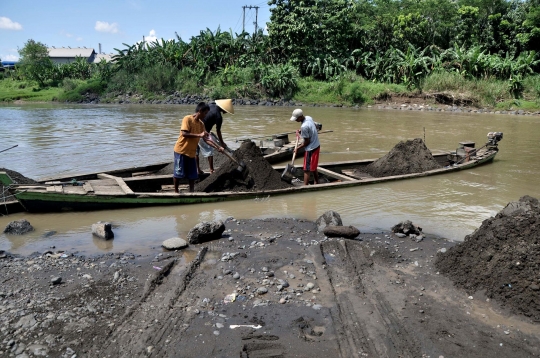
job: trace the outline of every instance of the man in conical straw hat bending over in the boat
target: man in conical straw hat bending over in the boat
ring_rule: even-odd
[[[223,124],[222,113],[234,114],[234,108],[231,99],[217,99],[215,102],[209,104],[210,112],[204,117],[204,127],[208,133],[216,126],[216,132],[223,148],[227,148],[227,144],[223,140],[221,135],[221,125]],[[204,140],[199,141],[199,147],[197,149],[197,170],[199,175],[202,174],[202,170],[199,166],[199,156],[202,155],[208,158],[208,164],[210,167],[210,173],[214,172],[214,148],[208,145]]]

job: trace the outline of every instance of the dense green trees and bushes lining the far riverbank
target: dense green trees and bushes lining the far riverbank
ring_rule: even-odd
[[[347,105],[437,95],[478,106],[540,107],[540,0],[268,4],[268,35],[206,29],[189,42],[124,44],[112,63],[53,65],[45,45],[29,40],[20,68],[2,82],[55,88],[60,101],[179,91]]]

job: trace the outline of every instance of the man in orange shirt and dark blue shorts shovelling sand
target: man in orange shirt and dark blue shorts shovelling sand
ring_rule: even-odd
[[[189,182],[189,191],[195,190],[195,180],[199,178],[195,160],[199,139],[203,138],[205,142],[212,144],[202,121],[209,110],[208,105],[201,102],[197,105],[195,114],[185,116],[182,119],[180,135],[174,146],[173,182],[175,193],[178,193],[179,179],[183,178]],[[223,147],[219,147],[218,151],[223,152]]]

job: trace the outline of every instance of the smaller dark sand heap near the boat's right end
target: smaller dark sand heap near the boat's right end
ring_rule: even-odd
[[[366,166],[363,171],[380,178],[391,175],[421,173],[440,168],[431,151],[420,138],[399,142],[384,157]]]

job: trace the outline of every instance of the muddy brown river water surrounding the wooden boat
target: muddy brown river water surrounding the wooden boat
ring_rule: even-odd
[[[0,167],[39,179],[172,161],[180,122],[193,106],[23,105],[0,106]],[[224,116],[224,138],[294,131],[290,107],[235,107]],[[371,159],[401,140],[424,138],[433,152],[455,150],[465,140],[482,146],[490,131],[504,132],[495,161],[472,170],[357,188],[214,204],[55,214],[19,213],[0,217],[0,232],[26,218],[35,231],[0,233],[0,250],[28,254],[52,246],[93,254],[158,249],[171,237],[185,237],[198,222],[295,217],[316,219],[340,213],[360,231],[389,230],[412,220],[425,233],[461,241],[509,201],[540,198],[540,117],[465,113],[306,107],[323,124],[321,162]],[[292,138],[292,136],[291,136]],[[264,138],[261,138],[264,139]],[[298,160],[297,164],[300,164]],[[92,238],[97,221],[113,223],[115,239]],[[291,234],[294,235],[294,234]],[[233,235],[234,236],[234,235]]]

